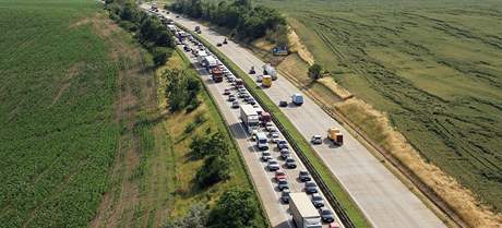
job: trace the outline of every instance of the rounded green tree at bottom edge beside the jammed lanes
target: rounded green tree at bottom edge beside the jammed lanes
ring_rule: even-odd
[[[258,212],[253,192],[234,188],[223,193],[210,213],[208,227],[249,227],[253,225]]]

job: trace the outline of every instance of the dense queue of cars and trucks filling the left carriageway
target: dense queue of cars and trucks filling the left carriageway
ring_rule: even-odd
[[[278,203],[286,207],[286,211],[289,208],[288,214],[292,216],[296,226],[309,228],[320,228],[323,225],[343,227],[328,203],[324,200],[324,195],[319,190],[318,184],[298,159],[296,152],[272,121],[271,113],[264,111],[258,104],[256,99],[246,88],[242,79],[230,72],[195,37],[178,28],[174,21],[165,15],[166,12],[150,9],[148,14],[158,16],[169,31],[175,34],[177,46],[193,62],[196,62],[194,67],[199,68],[199,70],[205,69],[211,82],[218,84],[219,96],[225,97],[228,108],[241,120],[241,129],[249,137],[248,141],[252,145],[252,152],[256,153],[258,163],[261,164],[266,176],[270,177],[279,199]],[[194,27],[193,32],[196,34],[202,33],[199,26]],[[225,45],[227,45],[227,39],[222,38],[222,43],[218,43],[216,47],[219,48]],[[276,76],[273,79],[266,72],[267,68],[267,65],[263,65],[264,74],[258,73],[255,68],[250,69],[248,72],[249,75],[261,82],[264,88],[270,87],[272,81],[277,80]],[[295,95],[292,100],[295,101]],[[286,101],[282,100],[278,104],[279,107],[284,107],[284,103]],[[312,143],[315,143],[315,139],[312,139]],[[307,200],[310,203],[302,202]]]

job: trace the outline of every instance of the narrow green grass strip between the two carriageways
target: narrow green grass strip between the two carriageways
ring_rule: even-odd
[[[182,27],[181,25],[178,25]],[[188,29],[187,29],[188,31]],[[356,227],[371,227],[368,220],[364,218],[363,214],[359,211],[356,203],[350,199],[350,196],[345,192],[340,183],[336,180],[336,178],[332,175],[322,159],[316,156],[316,154],[310,147],[309,142],[298,132],[295,125],[286,118],[286,116],[280,111],[280,109],[272,101],[268,96],[260,88],[260,86],[255,85],[254,81],[248,76],[246,72],[243,72],[236,63],[234,63],[230,59],[228,59],[222,51],[217,48],[212,46],[207,40],[203,37],[191,33],[193,36],[198,37],[210,50],[215,53],[222,62],[227,65],[230,71],[232,71],[236,75],[244,81],[250,89],[263,101],[262,105],[268,108],[268,110],[277,118],[277,120],[284,125],[284,128],[291,134],[295,139],[298,146],[301,151],[306,154],[308,159],[312,163],[315,167],[315,170],[321,175],[324,182],[328,185],[330,190],[335,194],[336,199],[339,201],[344,209],[347,212],[348,216],[352,219]]]

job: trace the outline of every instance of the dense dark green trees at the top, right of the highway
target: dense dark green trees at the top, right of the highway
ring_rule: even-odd
[[[176,0],[169,7],[178,13],[203,19],[234,31],[239,39],[253,40],[266,36],[278,45],[287,44],[286,20],[266,7],[252,7],[250,0],[202,1]]]

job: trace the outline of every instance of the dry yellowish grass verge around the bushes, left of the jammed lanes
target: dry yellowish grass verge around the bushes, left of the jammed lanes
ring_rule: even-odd
[[[168,195],[167,199],[169,200],[166,200],[166,204],[163,205],[166,208],[157,208],[157,212],[165,212],[164,214],[159,214],[157,216],[168,216],[170,218],[183,216],[191,205],[196,203],[208,204],[211,207],[222,193],[230,188],[253,188],[240,152],[234,143],[234,139],[231,137],[229,130],[226,128],[225,121],[218,112],[216,105],[213,103],[211,95],[205,89],[202,89],[198,95],[202,103],[195,110],[191,112],[182,110],[174,113],[167,110],[168,100],[166,100],[164,95],[166,81],[165,79],[162,79],[160,75],[164,70],[175,68],[180,70],[186,69],[191,76],[199,79],[199,75],[190,64],[189,60],[184,59],[184,56],[179,53],[178,50],[174,52],[171,58],[169,58],[165,68],[157,70],[158,109],[162,112],[163,119],[158,122],[156,128],[160,128],[163,130],[158,131],[156,136],[169,139],[169,148],[160,151],[159,153],[154,153],[154,156],[148,156],[147,158],[147,163],[150,164],[156,164],[158,160],[167,161],[167,164],[157,165],[167,168],[170,172],[168,180],[166,181],[166,184],[168,184],[169,188],[166,189],[166,191],[162,191],[162,194]],[[201,116],[204,121],[195,124],[192,131],[187,132],[187,127],[193,124],[193,122]],[[203,135],[214,133],[216,131],[223,132],[226,140],[230,142],[230,179],[207,189],[199,189],[193,182],[193,178],[199,168],[201,168],[203,159],[193,159],[190,155],[189,145],[194,135]],[[147,172],[155,173],[156,168],[153,166],[153,170],[148,168],[145,170]],[[153,178],[156,177],[155,175],[151,176]],[[143,184],[151,189],[151,191],[147,191],[145,194],[152,194],[152,192],[154,192],[153,190],[157,189],[156,185],[158,185],[158,182],[145,180],[143,181]],[[259,201],[258,197],[255,200]],[[263,212],[259,212],[258,224],[266,227],[267,221],[262,213]],[[164,217],[164,220],[167,217]]]

